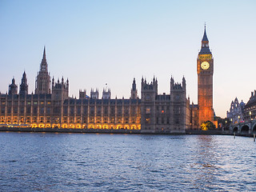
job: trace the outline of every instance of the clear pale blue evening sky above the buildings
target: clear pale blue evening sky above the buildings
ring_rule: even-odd
[[[51,78],[79,89],[107,86],[111,97],[130,97],[133,78],[158,78],[158,93],[186,78],[197,103],[197,57],[204,23],[214,56],[214,110],[247,102],[256,89],[256,1],[0,1],[0,91],[26,70],[29,92],[43,46]]]

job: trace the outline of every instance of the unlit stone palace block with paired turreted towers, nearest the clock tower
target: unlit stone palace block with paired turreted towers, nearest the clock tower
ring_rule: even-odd
[[[188,127],[186,80],[170,79],[170,94],[158,94],[158,80],[142,78],[142,133],[185,133]]]

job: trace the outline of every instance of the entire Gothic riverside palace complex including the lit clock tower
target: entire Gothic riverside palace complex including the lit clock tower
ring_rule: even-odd
[[[140,130],[145,134],[182,134],[200,129],[202,122],[214,121],[213,73],[214,60],[209,49],[206,28],[197,58],[198,105],[186,98],[186,79],[174,82],[170,92],[158,94],[158,80],[141,81],[141,98],[135,79],[130,98],[111,98],[104,89],[79,91],[79,98],[69,97],[69,80],[50,78],[46,49],[38,72],[34,94],[28,93],[26,72],[18,86],[15,79],[6,94],[0,94],[0,126],[58,129]]]

